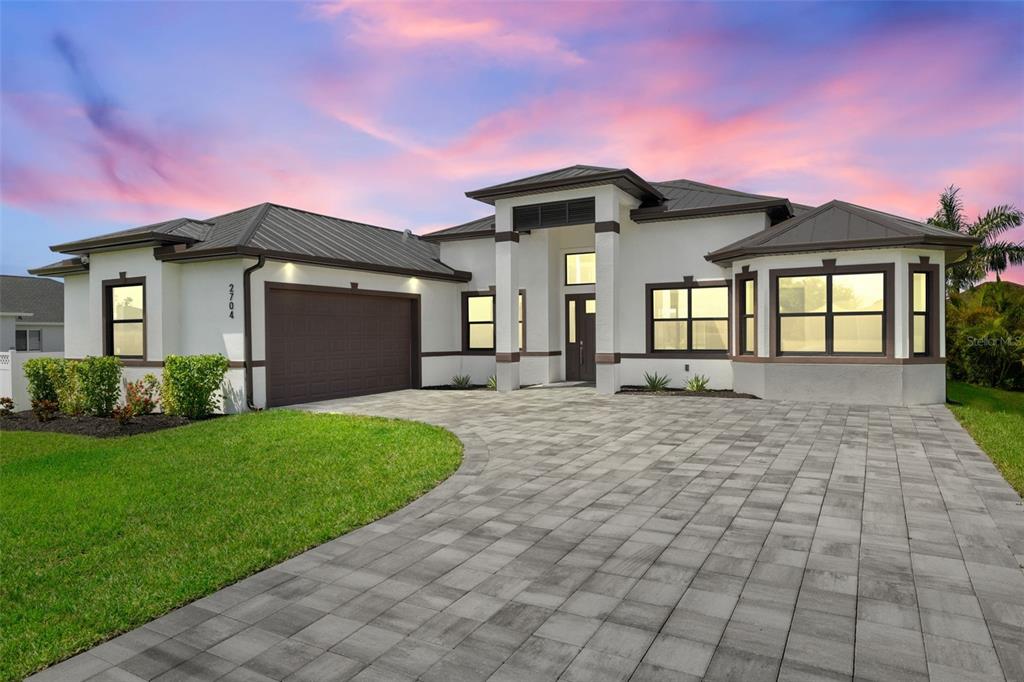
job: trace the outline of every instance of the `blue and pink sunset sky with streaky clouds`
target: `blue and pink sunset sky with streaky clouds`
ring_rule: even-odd
[[[424,232],[572,164],[1024,208],[1022,34],[1024,2],[3,2],[0,270],[265,201]]]

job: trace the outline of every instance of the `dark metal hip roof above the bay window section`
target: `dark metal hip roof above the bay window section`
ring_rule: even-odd
[[[926,245],[963,251],[977,242],[924,222],[833,200],[713,251],[706,258],[722,263],[764,254]]]

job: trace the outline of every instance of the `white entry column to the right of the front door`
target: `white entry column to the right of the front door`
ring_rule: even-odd
[[[600,217],[600,213],[598,215]],[[615,215],[614,217],[617,217]],[[618,368],[618,221],[598,220],[594,225],[594,251],[597,258],[597,284],[594,287],[597,319],[595,323],[597,392],[615,393],[622,386]]]

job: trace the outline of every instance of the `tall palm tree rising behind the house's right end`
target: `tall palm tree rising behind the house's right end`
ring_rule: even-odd
[[[949,185],[939,197],[939,210],[928,222],[961,235],[981,238],[962,260],[946,269],[948,291],[963,291],[985,279],[988,272],[999,273],[1009,265],[1024,263],[1024,243],[999,240],[999,236],[1024,222],[1024,211],[1010,204],[990,208],[972,223],[967,221],[959,187]]]

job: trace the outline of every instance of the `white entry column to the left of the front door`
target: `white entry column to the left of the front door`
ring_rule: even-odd
[[[495,363],[498,390],[519,388],[519,233],[512,209],[495,207]]]

